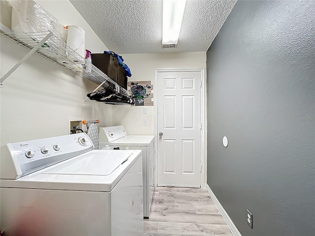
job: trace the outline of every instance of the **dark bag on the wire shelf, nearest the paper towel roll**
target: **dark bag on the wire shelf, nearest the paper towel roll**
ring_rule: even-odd
[[[99,70],[105,73],[109,78],[118,83],[118,67],[119,61],[115,57],[115,53],[91,53],[92,64],[95,65]],[[125,69],[125,68],[124,68]]]

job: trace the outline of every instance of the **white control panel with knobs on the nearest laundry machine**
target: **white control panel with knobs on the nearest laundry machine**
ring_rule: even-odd
[[[16,178],[28,175],[94,148],[86,133],[7,144]],[[9,160],[6,160],[9,161]]]

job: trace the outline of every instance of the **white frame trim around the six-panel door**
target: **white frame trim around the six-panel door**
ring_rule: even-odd
[[[154,86],[157,85],[158,82],[158,72],[200,72],[201,76],[201,188],[206,188],[206,174],[207,174],[207,166],[206,166],[206,81],[205,81],[205,68],[162,68],[162,69],[155,69],[155,78],[154,78]],[[155,144],[156,153],[155,153],[155,172],[154,172],[154,182],[155,186],[158,183],[158,89],[154,89],[153,93],[153,100],[154,100],[154,135],[155,135]]]

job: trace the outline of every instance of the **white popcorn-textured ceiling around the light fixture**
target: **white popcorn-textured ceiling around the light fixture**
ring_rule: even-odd
[[[162,49],[162,0],[70,0],[118,54],[207,51],[236,0],[187,0],[177,48]]]

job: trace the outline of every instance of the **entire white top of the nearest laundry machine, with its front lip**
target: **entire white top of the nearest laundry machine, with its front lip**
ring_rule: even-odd
[[[0,186],[110,192],[141,154],[141,150],[91,150],[18,179],[0,179]],[[142,165],[135,171],[142,176]]]

